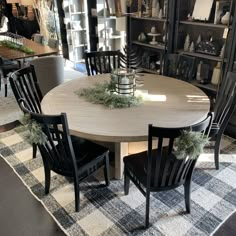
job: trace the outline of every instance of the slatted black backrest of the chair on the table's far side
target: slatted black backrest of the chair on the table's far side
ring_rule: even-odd
[[[87,74],[105,74],[111,73],[115,68],[120,67],[120,51],[95,51],[85,53],[85,63]]]

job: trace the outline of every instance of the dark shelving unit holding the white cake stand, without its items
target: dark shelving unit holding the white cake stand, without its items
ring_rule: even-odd
[[[141,51],[141,65],[139,69],[150,73],[163,74],[164,59],[167,53],[173,50],[173,22],[174,14],[172,11],[175,6],[174,1],[159,0],[160,8],[164,8],[166,4],[165,17],[152,16],[151,13],[147,15],[142,8],[141,16],[138,14],[138,1],[133,1],[130,12],[130,45],[133,50]],[[150,6],[151,8],[151,6]],[[159,34],[156,37],[157,44],[152,44],[152,33]],[[144,34],[146,39],[140,38]],[[155,35],[154,34],[154,35]],[[139,53],[140,55],[140,53]]]

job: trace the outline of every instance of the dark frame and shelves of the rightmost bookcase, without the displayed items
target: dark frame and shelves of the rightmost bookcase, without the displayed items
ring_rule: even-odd
[[[235,0],[226,0],[222,1],[225,4],[225,8],[222,8],[222,15],[225,14],[226,11],[230,12],[230,17],[233,19],[233,14],[235,11]],[[221,3],[221,4],[222,4]],[[175,45],[174,51],[177,54],[185,54],[188,56],[195,57],[196,59],[196,70],[197,66],[202,61],[204,64],[209,65],[209,73],[208,73],[208,83],[201,84],[199,81],[192,81],[196,86],[204,89],[209,93],[217,93],[218,86],[211,84],[211,79],[213,75],[213,70],[216,67],[217,63],[221,64],[221,74],[220,79],[224,77],[224,71],[226,69],[226,65],[228,63],[228,53],[227,51],[231,49],[229,45],[229,34],[232,30],[232,21],[229,21],[228,24],[222,24],[221,18],[218,22],[215,22],[215,13],[216,13],[216,0],[213,1],[211,13],[209,16],[209,20],[194,20],[191,19],[193,9],[194,9],[195,0],[177,0],[176,1],[176,19],[175,19]],[[225,12],[224,12],[225,11]],[[184,50],[184,43],[186,40],[186,36],[189,35],[190,43],[194,43],[195,49],[197,45],[197,39],[199,35],[201,36],[201,40],[205,42],[211,41],[216,46],[216,54],[212,55],[206,52],[198,52],[198,51],[186,51]],[[225,50],[222,50],[223,45],[225,45]],[[221,55],[220,55],[221,54]]]

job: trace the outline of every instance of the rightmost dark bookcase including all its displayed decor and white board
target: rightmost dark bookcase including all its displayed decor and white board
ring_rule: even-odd
[[[174,52],[194,57],[192,83],[216,94],[232,48],[234,0],[177,0]]]

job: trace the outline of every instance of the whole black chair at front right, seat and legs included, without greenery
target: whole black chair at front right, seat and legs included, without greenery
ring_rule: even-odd
[[[184,186],[186,210],[190,213],[191,178],[197,157],[184,155],[177,158],[174,152],[175,140],[183,130],[209,133],[213,113],[191,127],[160,128],[148,126],[148,150],[124,157],[124,192],[129,193],[130,180],[146,197],[145,226],[149,226],[150,193],[171,190]],[[153,141],[157,140],[157,144]]]

